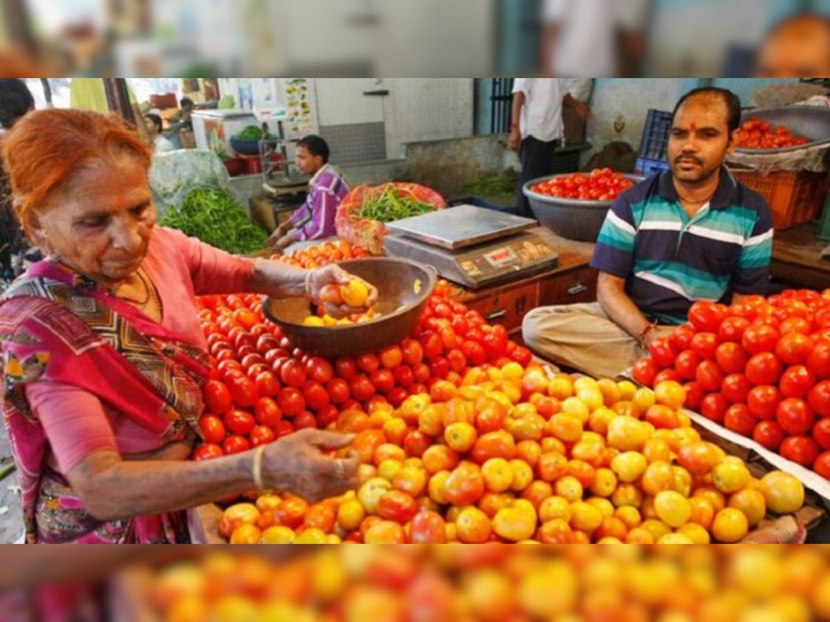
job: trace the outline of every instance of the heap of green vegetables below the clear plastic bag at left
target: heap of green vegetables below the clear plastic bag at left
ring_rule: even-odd
[[[195,188],[188,192],[181,209],[171,207],[159,219],[159,225],[178,229],[236,255],[249,255],[264,249],[268,237],[247,219],[227,191],[217,188]]]

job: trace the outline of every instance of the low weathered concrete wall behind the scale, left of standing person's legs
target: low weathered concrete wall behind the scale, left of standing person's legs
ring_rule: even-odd
[[[413,179],[445,197],[459,196],[466,183],[486,173],[519,167],[515,153],[506,149],[503,134],[408,143],[406,147]]]

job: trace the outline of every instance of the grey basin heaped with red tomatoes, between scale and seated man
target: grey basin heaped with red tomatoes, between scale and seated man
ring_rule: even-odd
[[[640,181],[642,177],[596,168],[534,179],[522,191],[541,226],[569,240],[595,242],[608,208]]]

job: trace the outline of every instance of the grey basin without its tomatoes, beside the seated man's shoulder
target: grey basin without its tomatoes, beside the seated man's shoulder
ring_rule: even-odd
[[[525,183],[522,192],[525,193],[525,197],[530,202],[530,209],[541,226],[569,240],[595,242],[599,236],[599,230],[603,228],[603,222],[605,222],[605,216],[608,215],[612,201],[580,201],[579,199],[549,197],[530,189],[539,183],[556,177],[568,177],[572,174],[564,173],[534,179]],[[642,182],[643,179],[637,175],[626,175],[626,177],[633,182]]]

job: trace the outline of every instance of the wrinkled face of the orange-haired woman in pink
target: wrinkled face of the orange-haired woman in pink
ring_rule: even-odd
[[[129,155],[76,173],[37,213],[37,245],[100,283],[129,279],[147,255],[155,225],[148,173]]]

